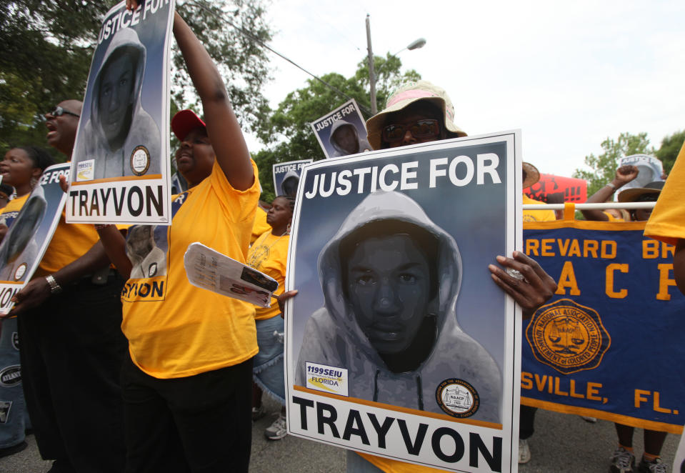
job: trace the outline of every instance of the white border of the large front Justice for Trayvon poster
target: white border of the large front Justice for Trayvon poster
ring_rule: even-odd
[[[371,151],[371,154],[369,153],[364,153],[364,154],[355,154],[351,156],[344,156],[339,159],[335,159],[335,161],[316,161],[313,164],[307,166],[306,169],[304,169],[303,174],[301,175],[301,180],[306,181],[306,173],[309,172],[314,172],[318,169],[321,169],[324,166],[331,166],[334,164],[341,164],[342,162],[344,163],[354,163],[357,161],[367,161],[371,158],[376,158],[376,157],[388,157],[388,156],[394,156],[394,155],[404,155],[404,154],[411,154],[412,152],[415,151],[424,151],[427,149],[455,149],[455,144],[461,145],[461,146],[467,146],[467,145],[477,145],[477,144],[488,144],[488,143],[493,143],[496,141],[505,141],[506,142],[506,153],[507,153],[507,160],[506,160],[506,169],[507,169],[507,176],[514,176],[513,179],[508,179],[506,182],[507,189],[506,189],[506,196],[507,196],[507,201],[506,201],[506,238],[505,238],[505,247],[506,247],[506,256],[511,257],[512,252],[514,250],[516,251],[521,251],[522,249],[522,242],[523,242],[523,234],[522,234],[522,210],[521,210],[521,195],[522,195],[522,174],[521,174],[521,131],[520,130],[513,130],[513,131],[503,131],[499,133],[494,133],[494,134],[483,134],[483,135],[477,135],[477,136],[466,136],[464,138],[459,138],[459,139],[449,139],[449,140],[444,140],[444,141],[434,141],[431,143],[425,143],[425,144],[416,144],[414,146],[406,146],[401,149],[389,149],[389,150],[381,150],[381,151]],[[344,160],[344,161],[343,161]],[[295,274],[295,262],[296,262],[296,247],[295,243],[298,240],[298,232],[299,232],[299,214],[300,214],[300,206],[301,206],[301,201],[303,199],[303,194],[304,194],[304,186],[299,187],[298,191],[298,196],[296,199],[296,210],[294,213],[293,217],[293,234],[290,240],[290,247],[289,247],[289,265],[287,268],[287,274],[286,274],[286,282],[285,282],[285,287],[286,291],[296,289],[294,287],[294,274]],[[493,259],[494,259],[493,255]],[[494,284],[494,283],[493,283]],[[501,436],[502,439],[502,446],[501,446],[501,467],[502,471],[510,471],[510,472],[516,472],[518,469],[518,437],[519,437],[519,401],[520,401],[520,372],[521,372],[521,309],[519,306],[517,306],[514,302],[514,299],[512,299],[509,296],[506,296],[506,303],[505,303],[505,314],[504,314],[504,319],[505,319],[505,325],[506,325],[506,339],[505,339],[505,352],[504,352],[504,373],[503,373],[503,409],[502,409],[502,421],[503,423],[501,424],[500,429],[492,429],[488,427],[481,427],[479,425],[474,425],[474,421],[469,422],[469,419],[451,419],[449,418],[449,422],[451,422],[451,427],[460,427],[461,429],[466,429],[467,432],[474,432],[476,434],[480,434],[484,437],[484,439],[487,438],[494,438],[493,433],[494,432],[499,432],[499,435]],[[301,405],[296,405],[293,402],[294,398],[294,372],[293,372],[293,367],[294,367],[294,362],[296,362],[295,354],[293,353],[293,346],[292,346],[292,317],[290,314],[292,314],[292,311],[294,309],[293,307],[293,300],[289,300],[286,302],[286,307],[285,307],[285,317],[286,317],[286,347],[284,351],[284,356],[285,356],[285,379],[286,379],[286,410],[287,410],[287,417],[289,419],[289,424],[288,424],[288,430],[289,434],[292,434],[296,437],[302,437],[306,439],[310,439],[316,442],[321,442],[324,444],[329,444],[335,447],[342,447],[346,449],[352,449],[357,452],[364,452],[367,454],[374,454],[376,456],[380,457],[386,457],[389,459],[399,459],[403,462],[410,462],[410,463],[415,463],[415,464],[422,464],[428,467],[434,467],[434,468],[441,468],[441,469],[446,469],[449,471],[477,471],[477,472],[490,472],[492,471],[489,468],[482,468],[482,465],[484,462],[482,461],[483,458],[481,457],[481,462],[479,464],[481,467],[474,469],[472,465],[469,465],[469,447],[466,447],[466,452],[464,453],[464,457],[462,457],[459,462],[456,463],[449,463],[449,462],[444,462],[443,460],[435,457],[435,455],[429,454],[427,451],[424,452],[424,450],[421,451],[421,454],[419,457],[416,457],[414,459],[412,458],[407,458],[406,455],[401,456],[397,454],[397,452],[394,452],[392,449],[386,449],[385,452],[379,452],[377,449],[369,449],[366,445],[364,445],[362,442],[360,442],[356,437],[352,437],[349,441],[342,441],[342,440],[331,440],[330,438],[321,435],[314,435],[314,434],[306,434],[302,432],[301,428],[301,412],[300,409],[306,409],[306,407],[301,407]],[[315,399],[319,399],[319,396],[316,394],[311,394],[309,392],[303,392],[303,391],[296,391],[296,396],[301,398],[301,399],[308,399],[311,401],[314,401]],[[324,399],[329,399],[331,401],[331,397],[326,397]],[[509,400],[509,402],[506,402]],[[346,402],[346,401],[338,401],[338,402],[343,402],[346,404],[354,404],[351,402]],[[354,404],[354,406],[359,406],[359,404]],[[347,409],[347,407],[345,407]],[[389,411],[387,409],[379,409],[378,407],[374,406],[369,406],[366,407],[366,412],[376,412],[377,409],[378,412],[385,412],[388,414]],[[311,410],[311,409],[310,409]],[[308,411],[308,416],[311,414],[311,412]],[[435,427],[439,428],[436,426],[439,425],[445,425],[444,420],[441,421],[441,423],[436,424],[436,422],[433,421],[434,414],[432,413],[426,413],[429,414],[429,416],[426,417],[421,417],[421,416],[415,416],[414,414],[409,414],[409,419],[413,419],[415,423],[418,422],[423,422],[429,423],[430,427]],[[447,416],[445,416],[447,417]],[[426,420],[427,419],[427,420]],[[308,417],[307,422],[314,422],[315,418],[314,417]],[[440,421],[439,421],[440,422]],[[407,424],[409,428],[409,432],[416,432],[416,429],[412,430],[411,425]],[[468,426],[468,427],[464,427]],[[325,427],[325,426],[324,426]],[[416,425],[414,426],[416,428]],[[429,427],[429,428],[430,428]],[[433,431],[434,432],[434,431]],[[391,439],[391,441],[387,442],[386,444],[392,444],[392,445],[398,445],[398,444],[403,444],[404,440],[402,437],[397,437],[397,433],[395,432],[395,437]],[[467,434],[468,436],[468,434]],[[490,436],[490,437],[488,437]],[[353,441],[353,439],[355,439]],[[488,444],[487,440],[484,440],[486,444]],[[430,443],[430,442],[427,442]],[[426,442],[424,442],[424,449],[426,447]]]

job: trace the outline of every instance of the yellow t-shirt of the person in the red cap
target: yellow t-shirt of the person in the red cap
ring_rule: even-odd
[[[254,306],[192,286],[183,264],[193,242],[246,261],[259,199],[254,162],[252,167],[254,184],[238,191],[215,162],[209,178],[174,200],[172,224],[154,227],[152,247],[129,252],[131,262],[146,273],[129,279],[121,291],[121,329],[129,339],[131,359],[150,376],[193,376],[239,364],[258,351]],[[129,244],[136,234],[144,234],[141,229],[129,229]],[[144,247],[144,239],[140,241]]]

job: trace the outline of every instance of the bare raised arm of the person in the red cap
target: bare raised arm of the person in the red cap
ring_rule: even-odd
[[[174,36],[202,101],[207,135],[216,161],[234,189],[249,189],[254,182],[250,154],[224,80],[209,53],[178,13],[174,14]]]

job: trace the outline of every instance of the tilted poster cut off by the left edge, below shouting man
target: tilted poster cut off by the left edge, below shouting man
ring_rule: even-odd
[[[66,201],[59,176],[69,176],[69,163],[45,169],[0,244],[0,314],[9,313],[50,244]]]

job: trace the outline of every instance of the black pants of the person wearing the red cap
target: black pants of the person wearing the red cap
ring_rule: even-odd
[[[252,360],[158,379],[124,362],[126,473],[247,472]]]

